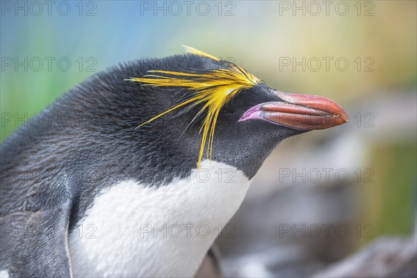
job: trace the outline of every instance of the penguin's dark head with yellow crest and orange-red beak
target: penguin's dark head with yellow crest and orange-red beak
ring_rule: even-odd
[[[274,90],[234,63],[188,51],[125,81],[152,99],[136,130],[158,133],[197,168],[209,159],[252,178],[282,140],[347,122],[330,99]]]

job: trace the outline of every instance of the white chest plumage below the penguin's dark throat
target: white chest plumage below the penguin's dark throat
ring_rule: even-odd
[[[160,188],[106,188],[70,234],[74,277],[192,277],[249,185],[236,168],[203,161]]]

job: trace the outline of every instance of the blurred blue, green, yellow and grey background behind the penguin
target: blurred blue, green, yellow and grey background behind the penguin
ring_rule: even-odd
[[[350,122],[265,161],[218,239],[225,275],[415,277],[416,3],[1,1],[0,138],[120,62],[181,44],[234,60]]]

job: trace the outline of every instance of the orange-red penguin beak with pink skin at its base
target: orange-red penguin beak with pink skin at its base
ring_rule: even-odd
[[[291,129],[328,129],[348,122],[343,108],[327,97],[275,91],[283,101],[258,104],[246,111],[239,122],[265,120]]]

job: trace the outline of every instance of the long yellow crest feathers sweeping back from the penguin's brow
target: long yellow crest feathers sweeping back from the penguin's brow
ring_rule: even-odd
[[[192,47],[186,48],[192,54],[220,61],[219,58],[211,56],[210,54],[205,54],[204,52]],[[260,82],[260,80],[256,78],[256,76],[250,74],[250,72],[247,72],[243,68],[231,63],[227,68],[208,70],[202,73],[170,72],[164,70],[149,70],[148,72],[152,74],[125,80],[137,81],[142,83],[142,85],[155,87],[170,86],[189,88],[193,91],[194,96],[181,102],[181,104],[173,106],[167,111],[152,117],[152,119],[147,120],[147,122],[144,122],[139,126],[148,124],[149,122],[156,120],[158,117],[161,117],[166,113],[170,113],[171,111],[174,111],[182,106],[186,106],[187,104],[192,106],[202,104],[202,108],[199,110],[195,118],[202,115],[202,113],[206,111],[207,115],[200,129],[200,132],[203,131],[203,135],[202,144],[199,150],[197,168],[201,165],[207,137],[207,157],[211,160],[215,124],[217,122],[220,109],[227,104],[230,99],[236,96],[238,92],[243,89],[253,87]]]

